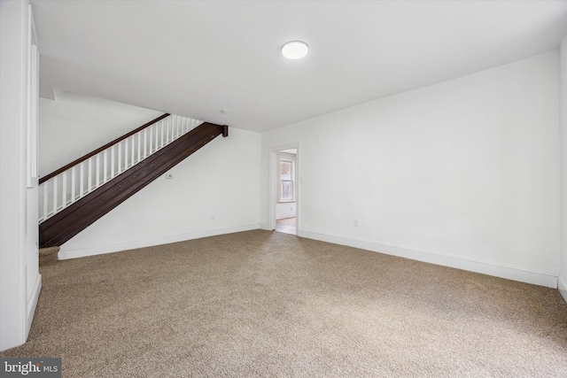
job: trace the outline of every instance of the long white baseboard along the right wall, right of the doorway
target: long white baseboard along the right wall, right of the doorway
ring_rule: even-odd
[[[323,235],[300,229],[298,230],[298,236],[557,289],[558,274],[553,272],[543,272],[519,266],[503,265],[477,258],[463,258],[461,256],[417,250],[415,248],[402,245],[374,243],[348,239],[340,236]],[[567,289],[567,286],[565,288]],[[564,292],[563,297],[566,297],[566,295],[567,291]]]

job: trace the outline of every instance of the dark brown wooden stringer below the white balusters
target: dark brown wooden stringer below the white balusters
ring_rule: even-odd
[[[218,135],[228,135],[228,127],[203,123],[45,220],[39,227],[40,247],[66,243]]]

